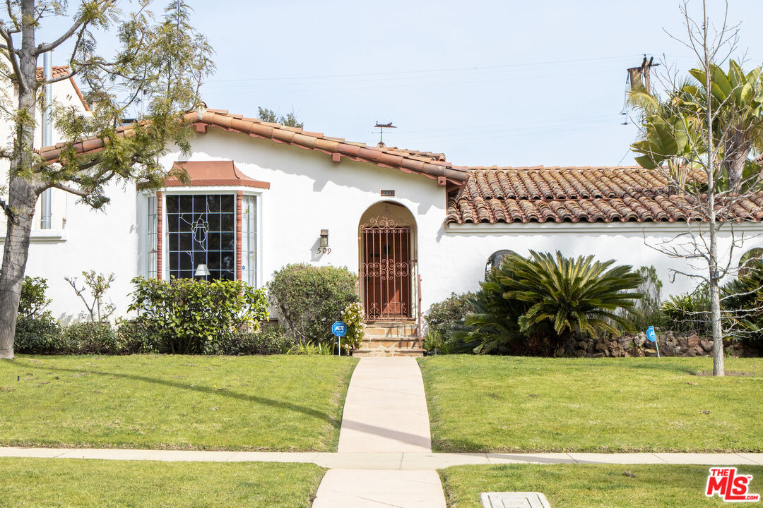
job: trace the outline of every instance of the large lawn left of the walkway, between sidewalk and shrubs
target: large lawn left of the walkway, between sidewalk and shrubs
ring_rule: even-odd
[[[333,451],[355,365],[330,356],[0,360],[0,446]]]

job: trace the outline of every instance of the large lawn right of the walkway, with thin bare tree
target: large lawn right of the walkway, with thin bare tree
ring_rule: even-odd
[[[761,452],[763,359],[421,359],[433,449]],[[709,414],[705,413],[709,411]]]

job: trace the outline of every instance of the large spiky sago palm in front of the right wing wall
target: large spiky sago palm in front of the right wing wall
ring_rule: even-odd
[[[641,283],[629,266],[614,260],[568,258],[530,251],[507,254],[481,283],[474,312],[452,333],[475,353],[562,354],[576,334],[617,333],[632,324],[617,314],[639,299]]]

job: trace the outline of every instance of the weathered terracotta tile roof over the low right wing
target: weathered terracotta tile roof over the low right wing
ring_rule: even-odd
[[[736,219],[763,219],[763,196],[741,200]],[[703,220],[691,196],[660,171],[620,168],[469,168],[446,222],[676,222]]]

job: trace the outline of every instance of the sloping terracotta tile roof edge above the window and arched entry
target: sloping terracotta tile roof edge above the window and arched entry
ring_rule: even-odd
[[[195,121],[199,132],[206,132],[207,127],[210,126],[217,127],[255,138],[295,145],[301,149],[324,152],[331,155],[334,162],[340,162],[341,158],[348,158],[352,161],[370,162],[382,168],[399,169],[405,173],[423,174],[436,179],[442,185],[445,185],[446,181],[462,184],[468,177],[466,168],[452,165],[445,160],[443,154],[368,146],[365,143],[349,142],[343,138],[324,136],[323,133],[311,133],[280,123],[246,118],[242,115],[228,113],[227,110],[192,111],[187,113],[185,117]]]

